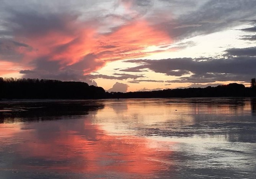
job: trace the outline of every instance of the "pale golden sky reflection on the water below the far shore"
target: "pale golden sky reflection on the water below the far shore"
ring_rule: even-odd
[[[164,126],[162,123],[168,122],[176,128],[194,123],[193,117],[188,115],[193,113],[193,109],[186,104],[177,105],[172,100],[120,99],[107,101],[104,105],[105,108],[98,111],[94,121],[97,121],[109,133],[134,134],[140,131],[134,131],[134,129],[162,128]],[[122,111],[123,108],[125,112]]]

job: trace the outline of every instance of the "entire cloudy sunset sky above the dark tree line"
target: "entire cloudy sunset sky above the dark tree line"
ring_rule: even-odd
[[[256,77],[256,0],[0,0],[0,77],[106,91]]]

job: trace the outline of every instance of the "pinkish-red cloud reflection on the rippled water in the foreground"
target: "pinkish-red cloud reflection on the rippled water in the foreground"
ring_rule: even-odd
[[[73,120],[23,123],[17,135],[9,135],[13,141],[18,137],[21,143],[9,145],[15,153],[6,167],[98,175],[148,175],[165,169],[161,160],[166,153],[149,147],[147,139],[108,135],[91,123],[91,118],[87,115]],[[2,136],[6,137],[4,133]]]

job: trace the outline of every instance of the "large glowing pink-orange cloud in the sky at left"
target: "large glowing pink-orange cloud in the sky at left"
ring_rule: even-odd
[[[61,75],[67,70],[79,70],[75,74],[86,75],[107,62],[154,53],[145,52],[148,46],[171,42],[166,32],[145,19],[126,21],[109,29],[109,33],[102,33],[100,29],[104,24],[97,20],[81,21],[79,16],[72,14],[32,15],[17,14],[12,20],[15,24],[13,41],[24,44],[14,49],[19,54],[21,70],[35,72],[29,77],[52,75],[65,80]]]

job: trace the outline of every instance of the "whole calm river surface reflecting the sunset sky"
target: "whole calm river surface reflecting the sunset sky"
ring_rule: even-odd
[[[0,179],[255,179],[256,99],[0,101]]]

